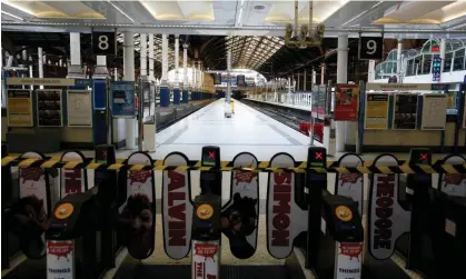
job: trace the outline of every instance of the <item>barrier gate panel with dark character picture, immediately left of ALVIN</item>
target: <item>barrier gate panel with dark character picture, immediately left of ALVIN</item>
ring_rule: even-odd
[[[133,152],[129,165],[151,166],[146,152]],[[146,259],[153,252],[156,235],[156,190],[152,170],[127,172],[127,200],[120,212],[119,223],[128,253],[135,259]]]

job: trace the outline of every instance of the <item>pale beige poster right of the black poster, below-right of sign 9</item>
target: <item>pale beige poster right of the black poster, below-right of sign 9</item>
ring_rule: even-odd
[[[423,96],[423,130],[445,130],[447,122],[446,94]]]

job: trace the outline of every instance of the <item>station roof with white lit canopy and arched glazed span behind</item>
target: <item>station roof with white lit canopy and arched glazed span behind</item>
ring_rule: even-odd
[[[309,22],[309,3],[313,26],[324,24],[326,39],[321,47],[305,50],[288,48],[282,39],[286,24],[294,23],[293,0],[4,0],[1,28],[16,46],[61,46],[63,53],[69,51],[63,42],[69,43],[71,31],[82,33],[83,51],[88,51],[92,31],[116,30],[120,44],[121,33],[132,31],[137,49],[139,33],[168,33],[171,60],[173,34],[179,34],[181,43],[190,44],[189,59],[202,61],[205,68],[226,69],[226,53],[230,50],[232,67],[250,68],[265,76],[318,62],[335,52],[336,37],[341,32],[349,38],[383,34],[395,39],[466,39],[466,1],[299,0],[299,26]],[[24,37],[24,31],[39,33]],[[156,69],[160,38],[155,39]]]

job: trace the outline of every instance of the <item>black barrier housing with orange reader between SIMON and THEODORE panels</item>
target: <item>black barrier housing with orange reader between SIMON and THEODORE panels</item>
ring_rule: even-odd
[[[319,279],[360,279],[364,229],[357,202],[325,195],[321,218],[320,249],[313,271]]]

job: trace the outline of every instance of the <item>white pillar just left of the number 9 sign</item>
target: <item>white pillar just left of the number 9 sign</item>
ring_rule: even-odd
[[[348,82],[348,34],[338,34],[337,49],[337,83]],[[336,121],[336,148],[337,152],[345,151],[345,121]]]

